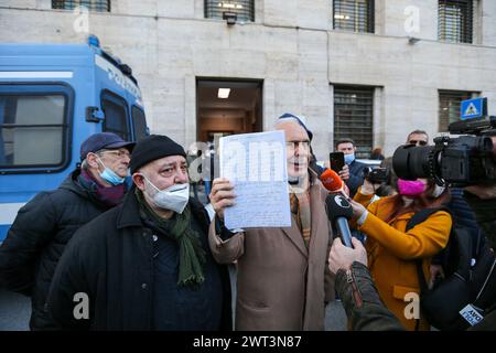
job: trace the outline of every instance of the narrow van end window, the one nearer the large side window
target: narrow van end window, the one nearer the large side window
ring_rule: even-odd
[[[114,132],[129,141],[131,136],[128,126],[126,100],[115,94],[104,93],[101,108],[105,114],[104,131]]]

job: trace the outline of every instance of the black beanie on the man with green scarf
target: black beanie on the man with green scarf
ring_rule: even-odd
[[[175,143],[166,136],[150,135],[138,141],[132,150],[131,162],[129,163],[131,174],[144,164],[169,156],[186,158],[186,152],[181,145]]]

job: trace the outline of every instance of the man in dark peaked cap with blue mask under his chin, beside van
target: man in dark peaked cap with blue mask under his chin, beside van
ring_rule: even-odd
[[[133,146],[115,133],[91,135],[80,146],[80,168],[19,211],[0,247],[0,287],[31,297],[32,330],[54,329],[45,302],[58,259],[82,225],[122,201]]]

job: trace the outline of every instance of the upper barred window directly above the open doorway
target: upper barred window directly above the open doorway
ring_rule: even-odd
[[[224,12],[234,12],[238,21],[255,21],[254,0],[205,0],[205,18],[223,19]]]

